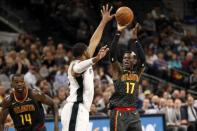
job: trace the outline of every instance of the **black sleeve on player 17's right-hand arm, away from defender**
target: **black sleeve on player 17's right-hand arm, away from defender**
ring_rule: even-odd
[[[136,44],[136,51],[137,51],[139,61],[140,61],[140,66],[144,67],[145,62],[146,62],[144,50],[143,50],[142,45],[139,41],[135,41],[135,44]]]

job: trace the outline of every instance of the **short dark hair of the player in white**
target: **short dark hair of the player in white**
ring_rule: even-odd
[[[83,55],[84,51],[87,50],[87,45],[84,43],[77,43],[72,48],[72,53],[74,57],[80,57]]]

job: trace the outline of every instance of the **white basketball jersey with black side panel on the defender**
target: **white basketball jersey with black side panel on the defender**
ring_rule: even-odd
[[[79,60],[71,62],[68,68],[68,79],[70,82],[70,95],[66,99],[67,102],[79,102],[84,104],[85,108],[90,111],[94,96],[94,72],[92,66],[85,70],[80,76],[72,76],[72,68]]]

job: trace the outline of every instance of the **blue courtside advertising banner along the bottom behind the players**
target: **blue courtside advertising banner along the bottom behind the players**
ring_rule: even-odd
[[[165,131],[165,118],[162,114],[154,115],[141,115],[142,131]],[[45,126],[47,131],[53,131],[53,120],[46,120]],[[61,129],[61,122],[59,122]],[[99,128],[99,131],[109,130],[109,118],[108,117],[91,117],[89,124],[89,131],[93,131],[95,128]],[[10,128],[9,131],[14,131]]]

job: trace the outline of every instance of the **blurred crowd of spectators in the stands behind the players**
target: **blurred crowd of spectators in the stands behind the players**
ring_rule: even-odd
[[[64,32],[64,35],[74,42],[87,42],[94,29],[90,26],[92,24],[89,24],[91,20],[86,16],[88,9],[83,8],[80,3],[75,7],[60,4],[59,12],[56,10],[56,14],[52,15],[53,20],[64,23],[65,30],[62,30],[67,32]],[[61,14],[68,10],[75,11],[73,14]],[[181,84],[183,89],[174,89],[171,84],[155,86],[143,78],[140,82],[138,109],[144,114],[163,113],[166,116],[168,130],[184,131],[187,125],[193,128],[192,124],[197,120],[197,102],[187,93],[187,89],[197,89],[197,36],[184,29],[183,21],[173,14],[173,11],[169,12],[171,11],[166,13],[155,7],[147,13],[141,23],[139,39],[146,53],[146,73]],[[59,17],[60,15],[66,16]],[[72,17],[72,21],[64,21],[61,19],[63,17]],[[81,19],[80,23],[78,18]],[[79,25],[77,30],[72,30],[72,24]],[[55,26],[58,24],[51,28]],[[130,44],[130,29],[131,27],[128,27],[121,34],[119,54],[128,46],[133,46]],[[25,82],[30,88],[37,88],[51,96],[58,104],[60,113],[69,95],[67,70],[73,59],[71,49],[66,48],[64,43],[57,43],[52,37],[43,42],[29,34],[20,34],[11,46],[9,50],[0,48],[0,102],[9,93],[12,75],[20,73],[24,74]],[[90,112],[92,116],[109,114],[109,98],[114,92],[111,72],[107,62],[94,67],[95,95]],[[187,77],[179,72],[184,72]],[[44,109],[46,114],[52,113],[45,105]]]

